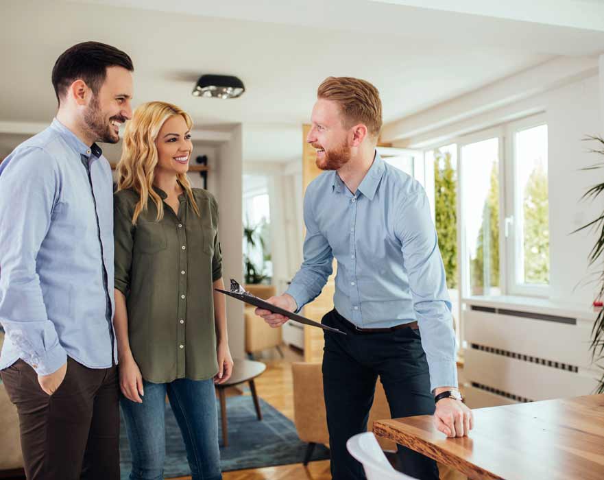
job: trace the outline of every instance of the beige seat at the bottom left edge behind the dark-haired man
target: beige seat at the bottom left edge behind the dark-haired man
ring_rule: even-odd
[[[3,342],[4,334],[0,332],[0,349]],[[2,383],[0,383],[0,425],[2,428],[0,435],[0,470],[23,467],[19,437],[19,416]]]

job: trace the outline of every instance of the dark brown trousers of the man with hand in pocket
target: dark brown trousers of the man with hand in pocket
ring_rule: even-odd
[[[87,368],[68,358],[51,396],[23,360],[0,376],[19,412],[27,480],[119,480],[117,367]]]

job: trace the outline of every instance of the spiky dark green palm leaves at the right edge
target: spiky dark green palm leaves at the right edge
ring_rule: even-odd
[[[596,141],[599,143],[597,148],[591,149],[590,152],[594,154],[600,154],[604,156],[604,139],[599,136],[588,136],[585,140]],[[583,170],[596,170],[604,168],[604,160],[592,165],[591,167],[586,167]],[[590,199],[594,200],[604,191],[604,182],[600,182],[599,184],[594,185],[588,191],[586,191],[581,200]],[[599,260],[603,259],[604,253],[604,211],[599,214],[599,216],[590,221],[588,224],[583,225],[581,228],[577,228],[575,232],[579,232],[580,230],[585,230],[585,228],[592,228],[598,234],[598,239],[590,252],[589,261],[590,265],[594,265]],[[574,232],[573,232],[574,233]],[[604,269],[598,276],[599,282],[599,291],[598,291],[598,300],[604,297]],[[594,364],[599,365],[599,363],[604,359],[604,309],[601,309],[594,321],[594,326],[592,327],[592,336],[591,336],[591,344],[590,350],[592,352],[592,360]],[[604,370],[604,367],[601,367]],[[600,383],[597,389],[597,393],[604,393],[604,374],[600,379]]]

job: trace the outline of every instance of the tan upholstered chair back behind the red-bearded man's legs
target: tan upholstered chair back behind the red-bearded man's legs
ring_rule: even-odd
[[[293,417],[300,440],[329,444],[321,364],[292,363],[291,370],[293,373]],[[378,381],[374,404],[367,422],[367,431],[372,431],[374,420],[387,418],[390,418],[390,409],[384,387]],[[378,438],[378,442],[384,450],[396,451],[394,442],[382,438]]]

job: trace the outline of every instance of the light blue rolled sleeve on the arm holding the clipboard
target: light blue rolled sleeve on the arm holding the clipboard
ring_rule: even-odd
[[[313,184],[309,185],[304,195],[304,261],[285,291],[295,300],[298,311],[319,296],[333,272],[333,252],[315,219],[313,202],[316,197],[313,196],[312,187]]]

